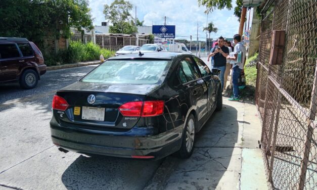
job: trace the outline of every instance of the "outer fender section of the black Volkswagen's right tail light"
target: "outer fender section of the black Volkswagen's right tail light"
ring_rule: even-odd
[[[161,115],[164,110],[164,101],[145,101],[142,110],[142,117]]]

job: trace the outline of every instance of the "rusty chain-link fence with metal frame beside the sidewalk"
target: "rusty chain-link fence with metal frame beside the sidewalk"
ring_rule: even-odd
[[[274,30],[285,30],[281,65],[270,65]],[[317,1],[273,0],[262,10],[255,102],[271,189],[317,190]]]

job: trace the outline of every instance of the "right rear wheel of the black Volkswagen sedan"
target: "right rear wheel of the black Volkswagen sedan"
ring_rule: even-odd
[[[177,152],[179,158],[189,158],[193,154],[195,144],[195,117],[191,114],[186,122],[182,137],[182,146]]]

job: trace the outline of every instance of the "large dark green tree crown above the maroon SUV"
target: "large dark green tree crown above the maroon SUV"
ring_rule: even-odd
[[[26,37],[38,44],[70,36],[70,28],[93,29],[88,0],[1,0],[0,36]]]

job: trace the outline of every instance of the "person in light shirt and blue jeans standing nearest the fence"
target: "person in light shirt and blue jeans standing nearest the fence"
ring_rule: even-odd
[[[243,72],[243,67],[246,61],[246,49],[245,46],[241,42],[241,35],[235,34],[234,35],[235,41],[235,49],[232,55],[227,57],[228,60],[233,60],[231,62],[233,64],[233,72],[232,72],[232,83],[233,83],[233,90],[234,96],[229,99],[229,101],[240,101],[239,99],[239,85],[238,85],[238,78]],[[241,58],[239,58],[241,56]]]

